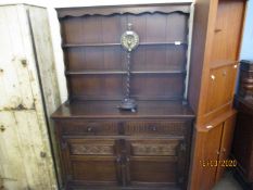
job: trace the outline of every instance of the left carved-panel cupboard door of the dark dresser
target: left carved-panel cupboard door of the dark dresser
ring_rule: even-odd
[[[116,140],[66,139],[64,143],[63,160],[67,181],[87,185],[122,183]]]

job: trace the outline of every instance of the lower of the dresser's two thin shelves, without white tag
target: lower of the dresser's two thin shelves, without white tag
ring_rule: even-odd
[[[186,71],[134,71],[131,74],[186,74]],[[125,71],[80,71],[65,72],[66,75],[123,75]]]

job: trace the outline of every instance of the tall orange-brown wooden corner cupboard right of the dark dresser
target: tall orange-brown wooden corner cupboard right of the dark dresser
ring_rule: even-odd
[[[189,104],[197,115],[191,185],[188,187],[192,190],[210,190],[224,170],[224,167],[200,165],[200,160],[206,161],[210,156],[204,142],[226,150],[222,150],[217,159],[224,160],[229,154],[230,149],[225,147],[232,139],[230,127],[235,119],[226,121],[235,113],[232,103],[245,4],[245,0],[195,1],[189,80]],[[207,130],[206,126],[217,129]],[[215,141],[217,137],[210,139],[215,130],[225,136],[222,141]]]

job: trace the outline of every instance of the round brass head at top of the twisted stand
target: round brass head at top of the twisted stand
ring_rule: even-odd
[[[121,38],[122,47],[127,51],[136,49],[139,45],[139,36],[131,30],[131,24],[128,23],[128,30],[126,30]]]

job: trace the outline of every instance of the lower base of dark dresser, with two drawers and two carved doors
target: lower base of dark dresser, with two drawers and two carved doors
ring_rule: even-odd
[[[55,114],[66,188],[186,188],[191,118],[94,122]],[[106,125],[113,130],[97,130]]]

